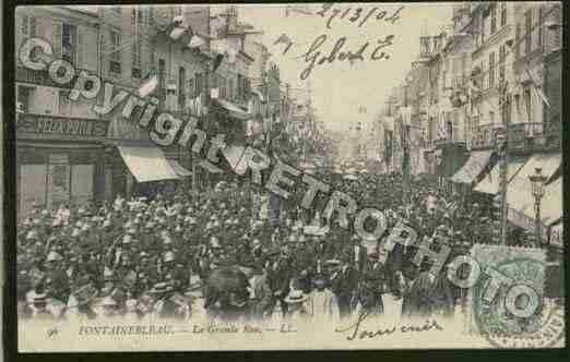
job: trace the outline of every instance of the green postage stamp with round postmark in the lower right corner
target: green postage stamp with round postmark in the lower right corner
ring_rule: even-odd
[[[544,251],[475,245],[489,254],[487,272],[473,287],[472,324],[497,348],[549,348],[563,338],[563,306],[545,297]],[[492,275],[492,276],[491,276]],[[495,282],[491,282],[491,277]]]

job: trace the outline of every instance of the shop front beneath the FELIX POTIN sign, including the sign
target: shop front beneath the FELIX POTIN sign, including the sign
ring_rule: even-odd
[[[17,209],[57,209],[97,202],[104,194],[108,121],[20,113],[16,122]]]

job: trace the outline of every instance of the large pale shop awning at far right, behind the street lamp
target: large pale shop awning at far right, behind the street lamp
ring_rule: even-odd
[[[534,219],[534,196],[532,194],[532,185],[531,181],[529,180],[529,176],[534,174],[536,168],[541,168],[542,173],[550,179],[560,168],[561,161],[561,154],[536,154],[533,155],[526,161],[526,164],[524,164],[519,172],[516,172],[516,174],[512,178],[511,182],[509,182],[507,188],[507,203],[509,204],[509,208],[513,209],[512,215],[523,214],[526,217],[529,217],[529,215],[533,215],[532,219]],[[556,188],[549,186],[550,185],[546,185],[543,202],[546,202],[546,200],[549,197],[547,194],[549,191],[553,192],[554,190],[554,192],[558,192]],[[561,197],[561,190],[558,197]],[[511,212],[509,212],[509,219],[510,215]],[[511,221],[519,225],[516,219],[512,219]],[[527,224],[519,226],[527,227]]]

